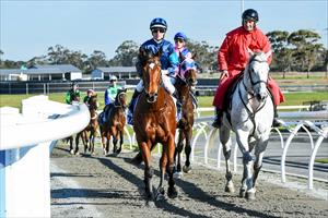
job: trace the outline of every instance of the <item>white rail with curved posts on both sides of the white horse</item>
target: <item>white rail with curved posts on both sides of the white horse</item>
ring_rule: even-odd
[[[307,106],[290,106],[286,107],[284,109],[300,109],[301,108],[305,108]],[[213,109],[211,109],[213,110]],[[209,111],[209,108],[200,108],[198,111]],[[285,182],[285,158],[286,158],[286,154],[288,154],[288,149],[291,145],[291,142],[293,140],[293,137],[297,134],[297,132],[300,131],[300,129],[305,130],[305,132],[307,133],[308,137],[309,137],[309,145],[312,147],[312,153],[311,153],[311,160],[308,162],[308,189],[313,189],[313,168],[314,168],[314,161],[315,161],[315,157],[317,155],[317,150],[319,148],[319,146],[323,144],[323,141],[325,138],[328,137],[328,111],[300,111],[300,112],[280,112],[279,117],[286,121],[284,123],[285,128],[290,131],[290,136],[286,138],[286,141],[284,142],[283,136],[280,132],[279,129],[273,128],[271,131],[276,131],[279,134],[280,137],[280,144],[281,144],[281,149],[282,149],[282,158],[281,158],[281,180],[282,182]],[[222,154],[222,145],[221,143],[218,144],[218,142],[220,142],[219,140],[219,130],[218,129],[213,129],[211,126],[211,123],[213,121],[213,117],[202,117],[202,118],[198,118],[196,120],[196,124],[195,124],[195,131],[196,134],[194,134],[194,138],[191,142],[191,161],[195,161],[195,148],[197,143],[199,144],[199,138],[201,135],[203,135],[203,137],[206,138],[206,143],[203,146],[203,156],[200,158],[203,158],[203,164],[204,165],[209,165],[209,157],[208,157],[208,148],[210,146],[215,146],[219,145],[219,149],[218,149],[218,156],[216,156],[216,168],[221,167],[221,154]],[[320,125],[320,128],[317,126],[317,124]],[[313,130],[315,131],[319,137],[317,138],[316,143],[313,142],[313,136],[311,134],[311,131]],[[209,134],[207,134],[209,132]],[[229,142],[231,143],[231,141]],[[234,154],[233,154],[233,170],[234,172],[237,171],[237,143],[235,143],[234,145]],[[199,157],[199,156],[197,156]]]

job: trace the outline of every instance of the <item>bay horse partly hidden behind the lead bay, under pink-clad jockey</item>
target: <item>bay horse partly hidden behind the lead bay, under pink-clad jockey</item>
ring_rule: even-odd
[[[190,153],[191,153],[191,138],[194,125],[194,104],[192,104],[192,89],[197,84],[197,69],[194,58],[183,59],[179,64],[178,73],[176,76],[175,88],[178,94],[179,101],[181,102],[181,119],[178,123],[178,143],[175,150],[176,172],[177,177],[181,174],[180,156],[185,146],[186,161],[183,167],[184,172],[188,173],[191,170]],[[176,159],[177,158],[177,159]]]

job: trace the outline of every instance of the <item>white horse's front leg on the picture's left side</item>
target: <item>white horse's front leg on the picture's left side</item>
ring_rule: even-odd
[[[243,166],[244,173],[242,180],[242,187],[239,191],[241,197],[246,197],[248,199],[255,198],[255,190],[253,185],[253,157],[249,152],[248,145],[248,132],[243,130],[236,131],[236,140],[238,147],[243,154]]]

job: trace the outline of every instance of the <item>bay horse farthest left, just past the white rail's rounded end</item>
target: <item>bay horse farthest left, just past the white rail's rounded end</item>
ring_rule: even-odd
[[[77,134],[75,137],[75,150],[74,154],[79,155],[79,140],[82,138],[82,143],[84,145],[84,154],[89,149],[91,155],[94,155],[94,141],[97,134],[98,129],[98,101],[97,101],[97,94],[94,94],[90,97],[89,101],[89,111],[90,111],[90,122],[86,128]],[[87,132],[90,132],[87,137]]]

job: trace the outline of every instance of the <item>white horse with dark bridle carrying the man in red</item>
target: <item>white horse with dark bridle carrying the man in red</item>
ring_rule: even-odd
[[[243,78],[232,94],[231,108],[223,114],[220,141],[226,164],[225,191],[234,192],[230,167],[231,147],[227,144],[232,130],[236,134],[236,141],[243,154],[244,173],[239,196],[255,199],[255,183],[262,166],[262,157],[273,121],[273,102],[267,89],[269,74],[267,59],[271,51],[268,53],[248,52],[250,58]],[[255,161],[251,156],[253,148],[255,148]]]

